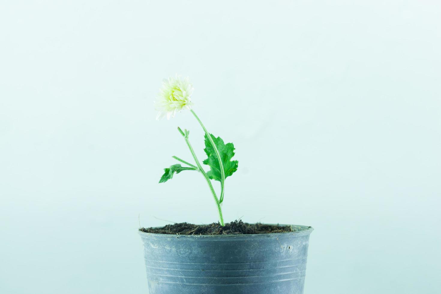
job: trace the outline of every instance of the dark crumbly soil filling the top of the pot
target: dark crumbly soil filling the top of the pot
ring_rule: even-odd
[[[237,235],[237,234],[268,234],[286,233],[299,231],[292,226],[267,225],[263,223],[244,223],[242,220],[221,226],[219,222],[208,225],[194,225],[191,223],[175,223],[161,228],[140,228],[139,231],[154,234],[173,234],[173,235]]]

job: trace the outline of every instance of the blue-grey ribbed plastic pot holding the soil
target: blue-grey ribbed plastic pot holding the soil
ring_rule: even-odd
[[[302,294],[312,227],[288,233],[139,232],[150,294]]]

